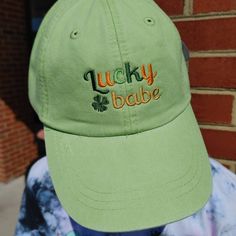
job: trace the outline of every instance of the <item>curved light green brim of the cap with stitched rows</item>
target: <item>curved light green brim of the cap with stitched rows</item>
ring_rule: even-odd
[[[52,181],[67,213],[102,232],[171,223],[207,202],[211,171],[192,107],[142,133],[84,137],[45,127]]]

